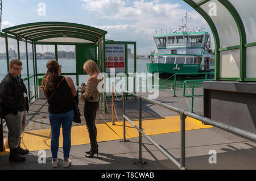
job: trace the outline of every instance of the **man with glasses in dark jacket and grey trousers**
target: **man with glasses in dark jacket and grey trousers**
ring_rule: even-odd
[[[14,59],[9,62],[9,73],[0,83],[0,104],[2,116],[8,128],[8,144],[10,161],[23,162],[22,154],[28,150],[20,148],[20,136],[26,127],[26,111],[28,112],[27,89],[23,80],[19,78],[22,71],[22,62]]]

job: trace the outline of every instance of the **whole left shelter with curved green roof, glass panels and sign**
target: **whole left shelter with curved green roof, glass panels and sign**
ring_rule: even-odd
[[[0,81],[9,71],[9,61],[19,58],[23,62],[20,77],[27,87],[31,103],[44,96],[40,81],[46,74],[48,60],[57,60],[61,65],[61,75],[71,77],[77,86],[89,78],[83,70],[85,61],[89,59],[96,61],[101,73],[108,74],[110,68],[116,68],[126,75],[128,71],[134,73],[136,42],[106,40],[106,34],[99,28],[67,22],[38,22],[6,28],[0,32]],[[106,47],[118,50],[106,51]],[[132,67],[127,63],[128,49],[133,52],[129,54]],[[127,80],[126,84],[128,86]],[[105,91],[100,101],[106,113]]]

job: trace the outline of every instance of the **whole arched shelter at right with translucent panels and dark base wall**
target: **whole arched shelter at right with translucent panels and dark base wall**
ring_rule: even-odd
[[[183,1],[214,36],[215,77],[204,82],[204,116],[256,133],[255,1]]]

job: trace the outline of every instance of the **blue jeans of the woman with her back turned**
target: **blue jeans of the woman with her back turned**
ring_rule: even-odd
[[[58,158],[60,125],[63,133],[63,153],[64,159],[69,158],[71,149],[71,127],[74,119],[74,110],[60,114],[49,113],[49,121],[52,129],[51,151],[52,159]]]

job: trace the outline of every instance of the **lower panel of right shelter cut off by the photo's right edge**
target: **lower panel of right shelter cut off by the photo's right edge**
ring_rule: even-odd
[[[248,47],[246,52],[246,78],[256,78],[256,47]]]

